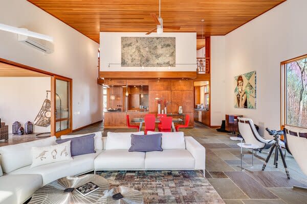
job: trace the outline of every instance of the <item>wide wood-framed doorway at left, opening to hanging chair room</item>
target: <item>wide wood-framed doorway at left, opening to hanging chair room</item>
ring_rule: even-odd
[[[35,135],[72,132],[72,79],[1,58],[0,79],[0,118],[10,133],[18,120],[33,123]]]

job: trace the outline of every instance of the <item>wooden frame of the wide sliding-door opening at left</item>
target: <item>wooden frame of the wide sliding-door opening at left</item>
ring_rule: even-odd
[[[0,62],[10,64],[10,65],[13,65],[13,66],[17,66],[17,67],[27,69],[27,70],[30,70],[30,71],[35,71],[35,72],[38,72],[38,73],[46,74],[50,77],[50,81],[51,81],[51,83],[50,83],[50,87],[51,87],[51,90],[50,90],[51,91],[50,92],[51,93],[51,98],[50,98],[50,100],[51,100],[51,127],[50,127],[50,132],[51,132],[51,136],[55,135],[55,115],[54,115],[54,113],[55,113],[55,89],[54,89],[55,78],[70,80],[70,132],[67,132],[65,134],[72,132],[72,126],[73,126],[73,115],[72,115],[73,80],[71,78],[63,77],[62,75],[58,75],[58,74],[55,74],[55,73],[52,73],[52,72],[49,72],[49,71],[45,71],[45,70],[38,69],[38,68],[35,68],[35,67],[27,66],[27,65],[20,64],[20,63],[17,63],[17,62],[13,62],[13,61],[10,61],[10,60],[6,60],[6,59],[3,59],[3,58],[0,58]]]

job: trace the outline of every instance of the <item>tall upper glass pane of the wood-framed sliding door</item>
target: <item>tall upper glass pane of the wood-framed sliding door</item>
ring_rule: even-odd
[[[56,119],[69,118],[70,82],[56,80],[55,109]]]

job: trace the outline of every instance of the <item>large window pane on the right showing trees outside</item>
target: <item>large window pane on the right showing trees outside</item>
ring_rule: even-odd
[[[286,123],[307,126],[307,58],[286,64]]]

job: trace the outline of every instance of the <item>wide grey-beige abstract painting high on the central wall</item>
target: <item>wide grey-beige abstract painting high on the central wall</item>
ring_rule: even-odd
[[[122,67],[176,66],[176,38],[122,37]]]

